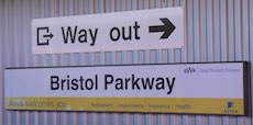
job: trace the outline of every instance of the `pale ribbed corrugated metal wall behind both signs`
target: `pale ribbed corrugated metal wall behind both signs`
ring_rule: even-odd
[[[55,55],[31,53],[31,20],[35,18],[178,5],[184,7],[186,13],[186,45],[182,49]],[[217,116],[6,111],[3,69],[37,66],[253,61],[253,0],[0,0],[0,42],[2,125],[252,125],[251,114]],[[249,99],[251,100],[252,95],[249,95]],[[251,113],[252,103],[250,110]]]

